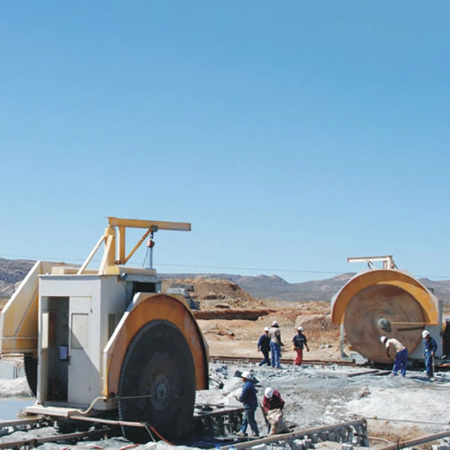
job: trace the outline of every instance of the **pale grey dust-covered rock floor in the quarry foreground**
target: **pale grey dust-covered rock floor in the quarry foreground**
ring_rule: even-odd
[[[374,375],[368,368],[305,365],[282,370],[257,364],[210,364],[210,390],[197,393],[198,404],[241,406],[236,397],[242,380],[236,371],[255,375],[259,401],[266,387],[279,390],[285,399],[285,420],[293,431],[346,420],[366,418],[371,446],[397,442],[434,432],[450,430],[450,373],[437,373],[431,383],[423,373],[409,371],[406,378]],[[383,373],[383,372],[382,372]],[[223,387],[219,389],[219,385]],[[0,380],[0,397],[29,397],[25,378]],[[256,413],[259,430],[266,427],[260,409]],[[383,440],[385,439],[385,440]],[[103,443],[102,443],[103,442]],[[86,444],[86,443],[85,443]],[[105,449],[124,446],[123,439],[95,442]],[[57,449],[56,444],[52,444]],[[148,443],[138,449],[154,448]],[[158,444],[162,448],[163,444]],[[41,450],[44,446],[40,446]]]

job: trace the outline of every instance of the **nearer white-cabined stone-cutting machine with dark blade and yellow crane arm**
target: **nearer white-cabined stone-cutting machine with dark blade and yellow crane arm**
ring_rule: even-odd
[[[126,255],[127,229],[146,230]],[[1,356],[25,356],[36,396],[27,413],[113,416],[168,438],[191,433],[195,390],[208,387],[207,345],[183,295],[154,269],[126,266],[158,230],[191,224],[108,217],[82,266],[39,261],[1,311]],[[147,241],[153,248],[153,241]],[[103,245],[98,269],[88,269]],[[134,441],[145,428],[125,428]]]

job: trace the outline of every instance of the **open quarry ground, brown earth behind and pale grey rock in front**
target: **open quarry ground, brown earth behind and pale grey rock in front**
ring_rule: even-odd
[[[233,283],[222,281],[196,282],[193,298],[200,303],[195,316],[211,356],[259,356],[257,339],[264,326],[274,320],[280,324],[285,342],[283,357],[293,358],[290,340],[300,325],[310,349],[304,354],[302,367],[285,365],[282,370],[214,362],[210,364],[210,390],[198,392],[199,403],[238,406],[236,395],[242,381],[235,373],[249,370],[258,380],[260,401],[265,387],[281,392],[286,401],[285,418],[294,430],[366,418],[373,447],[450,430],[450,372],[439,371],[431,383],[420,371],[409,371],[406,378],[391,378],[374,375],[370,368],[339,366],[340,328],[330,323],[329,301],[257,300]],[[448,305],[444,314],[450,315]],[[347,345],[344,350],[351,352]],[[321,366],[310,360],[335,364]],[[14,391],[11,383],[0,380],[0,397],[12,392],[27,394],[24,385]],[[264,435],[261,411],[256,418]],[[419,447],[429,449],[430,444]]]

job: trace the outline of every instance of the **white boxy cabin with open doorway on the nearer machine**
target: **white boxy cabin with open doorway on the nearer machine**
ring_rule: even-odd
[[[102,397],[103,349],[117,323],[134,293],[161,289],[154,271],[145,272],[39,276],[37,404],[86,409]],[[115,402],[95,407],[111,409]]]

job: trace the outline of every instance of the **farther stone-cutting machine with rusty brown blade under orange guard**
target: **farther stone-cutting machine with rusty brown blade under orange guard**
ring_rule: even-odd
[[[422,331],[442,342],[442,302],[407,271],[397,269],[392,256],[348,258],[365,262],[368,270],[356,274],[331,300],[331,321],[341,326],[352,349],[375,363],[387,358],[381,336],[396,338],[408,348],[409,359],[423,360]],[[382,262],[375,269],[373,262]],[[442,356],[439,345],[436,356]]]

